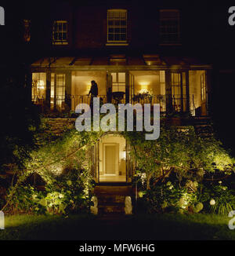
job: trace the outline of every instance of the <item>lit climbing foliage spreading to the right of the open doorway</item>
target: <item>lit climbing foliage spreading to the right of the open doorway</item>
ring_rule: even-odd
[[[175,172],[179,186],[183,177],[194,174],[203,177],[215,170],[224,174],[233,172],[234,159],[222,148],[215,137],[200,137],[193,127],[161,126],[157,141],[146,141],[141,132],[126,132],[132,145],[132,157],[137,163],[137,173],[146,174],[146,187],[150,180],[159,180]]]

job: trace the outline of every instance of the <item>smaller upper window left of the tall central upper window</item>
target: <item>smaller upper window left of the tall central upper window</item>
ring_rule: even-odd
[[[53,24],[52,43],[54,45],[67,45],[67,21],[56,20]]]

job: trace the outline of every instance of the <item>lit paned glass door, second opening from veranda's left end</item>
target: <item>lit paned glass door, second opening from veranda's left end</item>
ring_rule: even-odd
[[[61,110],[65,107],[65,74],[52,73],[51,108]]]

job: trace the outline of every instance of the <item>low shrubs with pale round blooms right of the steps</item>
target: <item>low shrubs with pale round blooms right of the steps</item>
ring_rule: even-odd
[[[193,181],[197,183],[197,181]],[[161,185],[152,186],[150,190],[140,191],[138,199],[139,212],[146,213],[213,213],[227,215],[235,209],[235,192],[228,186],[212,184],[198,185],[198,189],[190,191],[185,183],[179,184],[168,181]]]

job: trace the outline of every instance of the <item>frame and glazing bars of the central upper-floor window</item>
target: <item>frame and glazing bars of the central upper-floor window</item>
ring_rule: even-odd
[[[124,25],[121,25],[120,26],[110,26],[109,25],[109,20],[114,20],[114,18],[110,18],[109,16],[109,13],[125,13],[125,26]],[[119,20],[121,21],[121,17],[119,17]],[[128,23],[128,19],[127,19],[127,9],[108,9],[107,10],[107,45],[118,45],[118,46],[127,46],[128,43],[127,43],[127,29],[128,29],[128,26],[127,26],[127,23]],[[125,40],[109,40],[109,28],[112,27],[125,27]],[[113,33],[115,35],[115,33]],[[124,34],[124,33],[119,33],[120,35],[121,34]]]

